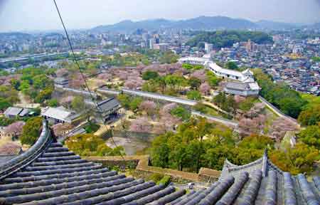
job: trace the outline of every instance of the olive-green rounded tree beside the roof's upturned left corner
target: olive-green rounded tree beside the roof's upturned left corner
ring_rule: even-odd
[[[34,144],[41,133],[42,118],[31,117],[26,121],[26,125],[23,126],[22,134],[20,136],[21,144]]]

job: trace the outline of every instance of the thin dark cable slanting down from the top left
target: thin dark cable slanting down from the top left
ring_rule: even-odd
[[[89,86],[87,85],[87,79],[85,78],[85,74],[83,73],[83,71],[81,70],[80,68],[80,65],[79,65],[79,62],[78,62],[78,59],[77,57],[75,56],[75,52],[73,51],[73,45],[70,41],[70,38],[69,38],[69,34],[68,34],[68,31],[67,31],[67,28],[65,28],[65,23],[63,22],[63,18],[60,14],[60,10],[58,8],[58,5],[57,5],[57,2],[55,2],[55,0],[53,0],[54,4],[55,4],[55,9],[57,10],[58,12],[58,16],[59,16],[59,19],[61,21],[61,24],[63,25],[63,30],[65,31],[65,36],[67,36],[67,40],[68,40],[68,43],[69,43],[69,46],[70,46],[70,49],[71,49],[71,53],[73,55],[73,63],[75,63],[75,65],[77,65],[79,71],[80,71],[80,75],[82,77],[82,79],[85,81],[85,88],[87,88],[88,92],[90,93],[90,98],[92,100],[92,102],[94,102],[95,104],[95,107],[97,107],[97,112],[98,112],[98,115],[101,115],[101,120],[103,122],[103,125],[105,126],[105,129],[106,130],[109,130],[107,128],[107,125],[105,125],[105,120],[104,120],[104,117],[102,116],[102,112],[100,112],[100,107],[97,105],[97,99],[95,99],[91,93],[91,90],[89,88]],[[96,94],[96,93],[95,93]],[[96,94],[97,95],[97,94]],[[117,144],[114,142],[114,139],[113,139],[113,133],[111,133],[111,139],[112,139],[112,143],[114,144],[115,147],[118,147]],[[124,159],[124,156],[122,155],[121,152],[119,152],[122,159]]]

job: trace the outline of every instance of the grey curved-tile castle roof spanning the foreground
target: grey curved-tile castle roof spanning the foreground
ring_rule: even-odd
[[[186,193],[87,162],[50,140],[46,123],[43,127],[38,141],[45,146],[37,142],[34,146],[38,149],[0,168],[0,204],[319,205],[320,178],[307,182],[303,174],[293,177],[282,172],[269,161],[267,153],[242,166],[226,160],[218,182],[208,189]],[[39,150],[40,154],[35,154]]]

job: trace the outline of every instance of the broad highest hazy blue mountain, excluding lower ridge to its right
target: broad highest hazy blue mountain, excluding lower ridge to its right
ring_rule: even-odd
[[[130,32],[139,28],[146,30],[156,30],[159,28],[189,28],[195,30],[213,30],[213,29],[245,29],[257,28],[252,21],[245,19],[231,19],[225,16],[200,16],[195,19],[186,19],[180,21],[169,21],[166,19],[154,19],[146,21],[121,21],[113,25],[97,26],[93,31],[116,31]]]

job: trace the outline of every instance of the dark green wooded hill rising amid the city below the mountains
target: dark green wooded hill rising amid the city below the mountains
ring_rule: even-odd
[[[258,44],[273,43],[272,36],[260,31],[203,31],[191,38],[187,45],[199,46],[199,43],[207,42],[213,43],[214,48],[223,48],[231,47],[233,43],[249,39]]]

